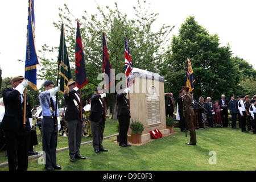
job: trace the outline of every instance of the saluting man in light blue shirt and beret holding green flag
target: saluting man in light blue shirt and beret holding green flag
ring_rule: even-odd
[[[42,144],[46,158],[44,159],[45,168],[48,171],[61,169],[61,166],[56,164],[56,148],[57,148],[57,132],[60,130],[59,108],[55,108],[56,96],[59,92],[59,86],[53,88],[53,81],[46,80],[44,82],[46,91],[39,94],[40,104],[42,106]],[[55,116],[55,109],[57,115]],[[55,126],[57,119],[57,126]]]

